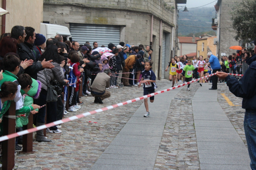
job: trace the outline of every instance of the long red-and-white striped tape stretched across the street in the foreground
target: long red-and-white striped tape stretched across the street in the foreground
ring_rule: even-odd
[[[129,104],[129,103],[135,102],[135,101],[146,99],[148,97],[155,96],[155,95],[163,93],[163,92],[168,92],[168,91],[170,91],[172,89],[176,89],[176,88],[179,88],[179,87],[182,87],[182,86],[185,86],[185,85],[197,82],[198,80],[202,80],[204,78],[211,77],[211,76],[216,75],[216,74],[217,73],[213,73],[213,74],[210,74],[208,76],[204,76],[204,77],[197,78],[195,80],[183,83],[181,85],[177,85],[177,86],[174,86],[174,87],[162,90],[162,91],[154,92],[154,93],[151,93],[151,94],[148,94],[148,95],[145,95],[145,96],[141,96],[141,97],[138,97],[138,98],[135,98],[135,99],[132,99],[132,100],[127,100],[127,101],[124,101],[122,103],[117,103],[117,104],[110,105],[110,106],[107,106],[107,107],[103,107],[103,108],[100,108],[100,109],[97,109],[97,110],[86,112],[86,113],[83,113],[83,114],[80,114],[80,115],[71,116],[71,117],[68,117],[66,119],[62,119],[62,120],[58,120],[58,121],[55,121],[55,122],[52,122],[52,123],[48,123],[48,124],[45,124],[45,125],[37,126],[36,128],[31,128],[31,129],[23,130],[23,131],[20,131],[20,132],[17,132],[17,133],[13,133],[13,134],[10,134],[10,135],[6,135],[6,136],[3,136],[3,137],[0,137],[0,142],[4,141],[4,140],[11,139],[11,138],[14,138],[14,137],[18,137],[18,136],[21,136],[21,135],[26,135],[28,133],[35,132],[37,130],[42,130],[42,129],[45,129],[45,128],[50,128],[52,126],[56,126],[56,125],[59,125],[61,123],[66,123],[66,122],[70,122],[72,120],[80,119],[80,118],[88,116],[88,115],[92,115],[92,114],[95,114],[95,113],[103,112],[105,110],[110,110],[110,109],[113,109],[113,108],[116,108],[116,107],[119,107],[119,106],[123,106],[123,105]]]

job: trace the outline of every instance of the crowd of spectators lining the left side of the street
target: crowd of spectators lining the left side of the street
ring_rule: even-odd
[[[80,89],[83,96],[92,93],[95,103],[103,103],[102,100],[110,97],[106,89],[139,84],[144,62],[150,61],[153,52],[142,44],[109,43],[113,57],[105,57],[97,51],[97,42],[92,45],[88,41],[63,42],[61,35],[46,40],[32,27],[14,26],[11,33],[4,33],[0,37],[0,122],[12,100],[16,102],[16,132],[28,124],[29,114],[33,114],[33,124],[40,126],[77,112],[84,104],[79,100]],[[58,94],[56,100],[47,100],[52,92],[49,87]],[[40,107],[44,105],[47,107]],[[52,126],[46,131],[61,133],[60,128],[61,125]],[[36,141],[51,142],[44,137],[43,130],[36,134]],[[16,137],[15,151],[22,150],[20,144],[22,137]]]

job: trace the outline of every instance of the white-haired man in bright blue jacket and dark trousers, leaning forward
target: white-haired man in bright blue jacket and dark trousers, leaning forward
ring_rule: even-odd
[[[211,64],[212,74],[216,73],[217,71],[220,71],[219,59],[215,55],[212,55],[212,52],[208,52],[207,56],[210,58],[208,63]],[[210,88],[209,90],[217,90],[218,78],[214,75],[212,76],[211,79],[212,79],[212,88]]]

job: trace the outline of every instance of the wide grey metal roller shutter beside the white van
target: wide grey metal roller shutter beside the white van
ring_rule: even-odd
[[[69,24],[72,40],[84,44],[89,41],[91,46],[94,41],[98,42],[98,47],[109,43],[118,45],[120,42],[120,26],[92,25],[92,24]]]

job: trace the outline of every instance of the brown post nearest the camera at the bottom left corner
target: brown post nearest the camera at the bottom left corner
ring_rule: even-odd
[[[15,133],[16,130],[16,103],[12,102],[9,110],[4,114],[3,117],[3,135],[9,135]],[[3,141],[2,144],[2,158],[3,166],[2,169],[12,170],[14,167],[14,151],[15,151],[15,137],[9,140]]]

